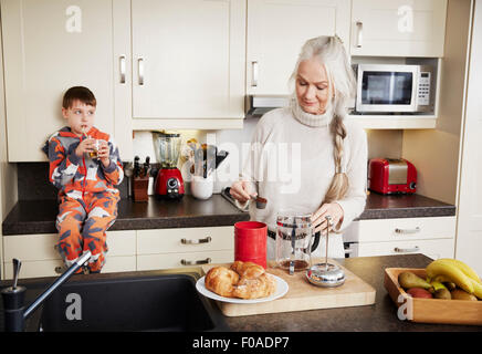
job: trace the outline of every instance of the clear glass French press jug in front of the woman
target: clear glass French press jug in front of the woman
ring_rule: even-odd
[[[279,215],[276,218],[276,266],[290,274],[311,266],[314,235],[311,215]]]

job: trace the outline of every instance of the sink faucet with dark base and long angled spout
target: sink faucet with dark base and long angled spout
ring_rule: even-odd
[[[23,300],[25,298],[25,287],[17,285],[20,273],[21,262],[13,259],[13,285],[4,288],[1,291],[3,298],[4,312],[4,331],[6,332],[22,332],[24,330],[25,320],[39,308],[39,305],[49,298],[56,288],[62,285],[75,271],[81,268],[91,258],[91,251],[82,254],[75,263],[73,263],[62,275],[60,275],[46,290],[39,295],[30,306],[24,308]]]

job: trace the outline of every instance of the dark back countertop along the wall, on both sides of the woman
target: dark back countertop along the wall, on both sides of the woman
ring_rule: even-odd
[[[3,236],[28,233],[55,233],[56,200],[21,200],[17,202],[2,223]],[[371,192],[365,211],[358,219],[419,218],[454,216],[455,206],[419,195],[381,196]],[[185,196],[181,200],[148,202],[120,199],[118,217],[109,230],[140,230],[230,226],[249,220],[221,195],[208,200]]]

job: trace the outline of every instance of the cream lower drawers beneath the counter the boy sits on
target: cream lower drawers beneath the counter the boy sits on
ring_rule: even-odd
[[[57,233],[4,236],[4,279],[13,278],[13,258],[22,261],[21,279],[63,273],[57,238]],[[234,227],[107,231],[107,246],[103,273],[227,263],[234,259]]]

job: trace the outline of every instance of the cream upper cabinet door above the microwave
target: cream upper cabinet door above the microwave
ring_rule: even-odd
[[[352,55],[443,56],[447,0],[353,0]]]

